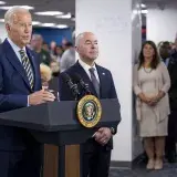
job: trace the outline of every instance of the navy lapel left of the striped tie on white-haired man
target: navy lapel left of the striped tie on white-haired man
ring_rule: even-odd
[[[24,67],[22,66],[21,62],[19,61],[17,54],[14,53],[12,46],[9,44],[8,40],[6,40],[3,42],[3,46],[4,46],[4,50],[6,50],[7,59],[14,66],[14,69],[17,70],[17,72],[20,73],[20,75],[22,76],[23,81],[25,82],[25,84],[28,85],[28,87],[31,90],[31,86],[30,86],[29,80],[27,77]]]

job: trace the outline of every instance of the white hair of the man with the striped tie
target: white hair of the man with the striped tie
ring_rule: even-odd
[[[27,12],[30,13],[28,9],[24,9],[22,7],[14,6],[10,8],[6,13],[4,13],[4,23],[6,24],[11,24],[13,21],[13,15],[18,12]]]

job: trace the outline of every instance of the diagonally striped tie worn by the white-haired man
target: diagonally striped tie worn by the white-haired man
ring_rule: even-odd
[[[29,60],[24,50],[20,50],[19,53],[20,53],[20,56],[21,56],[21,63],[24,67],[24,71],[25,71],[27,76],[29,79],[30,86],[32,88],[33,85],[34,85],[34,75],[33,75],[33,72],[32,72],[32,66],[31,66],[30,60]]]

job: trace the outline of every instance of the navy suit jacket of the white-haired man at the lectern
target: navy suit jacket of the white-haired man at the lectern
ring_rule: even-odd
[[[34,73],[31,90],[25,71],[6,40],[0,45],[0,112],[28,106],[28,95],[41,90],[40,65],[37,54],[27,48]],[[30,135],[22,128],[0,126],[0,150],[22,150],[30,144]]]

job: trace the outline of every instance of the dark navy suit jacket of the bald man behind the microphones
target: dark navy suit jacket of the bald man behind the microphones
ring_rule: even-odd
[[[96,70],[100,77],[101,88],[100,88],[100,98],[117,98],[114,82],[112,74],[108,70],[96,64]],[[80,65],[79,62],[76,62],[73,66],[71,66],[69,70],[65,71],[71,77],[73,73],[77,73],[80,76],[82,76],[83,81],[88,84],[90,91],[93,95],[96,95],[96,91],[93,86],[93,83],[91,82],[88,75],[84,71],[84,69]],[[73,81],[74,82],[74,81]],[[81,97],[84,96],[84,91],[79,86]],[[74,97],[71,94],[71,91],[69,90],[66,83],[63,80],[63,73],[59,76],[59,95],[61,101],[72,101]],[[115,129],[117,127],[114,127]],[[88,139],[85,144],[85,150],[93,150],[94,146],[97,143],[93,139]],[[110,140],[110,143],[105,146],[106,149],[113,148],[113,139]]]

